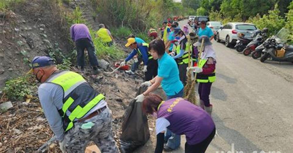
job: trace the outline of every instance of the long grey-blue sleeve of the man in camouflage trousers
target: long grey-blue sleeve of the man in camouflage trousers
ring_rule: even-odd
[[[54,105],[52,94],[50,94],[46,89],[39,88],[38,97],[40,99],[45,117],[47,118],[49,126],[51,127],[53,133],[55,134],[56,139],[58,141],[62,141],[64,137],[62,118],[59,115],[57,107]],[[62,95],[61,95],[61,100],[62,100]]]

